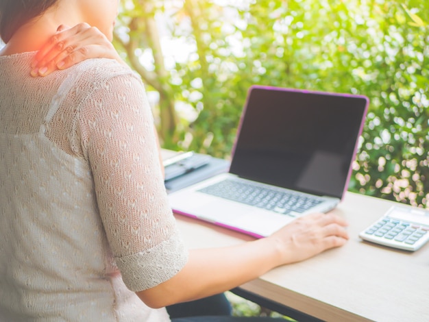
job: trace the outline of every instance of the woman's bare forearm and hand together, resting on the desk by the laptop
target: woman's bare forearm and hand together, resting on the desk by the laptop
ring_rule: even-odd
[[[137,294],[148,306],[159,308],[221,293],[274,267],[344,245],[349,238],[346,225],[333,214],[310,214],[267,238],[232,247],[192,250],[188,263],[171,280]]]

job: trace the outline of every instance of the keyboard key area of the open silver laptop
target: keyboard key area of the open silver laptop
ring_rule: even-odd
[[[198,191],[289,216],[293,216],[293,212],[306,212],[322,202],[318,197],[300,195],[281,188],[268,188],[257,183],[252,184],[252,182],[241,182],[234,179],[225,179]]]

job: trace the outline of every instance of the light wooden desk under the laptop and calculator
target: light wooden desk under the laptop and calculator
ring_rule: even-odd
[[[358,237],[392,204],[347,193],[332,210],[350,224],[344,247],[279,267],[241,288],[323,321],[429,321],[429,245],[410,253]],[[210,223],[176,218],[190,248],[252,240]]]

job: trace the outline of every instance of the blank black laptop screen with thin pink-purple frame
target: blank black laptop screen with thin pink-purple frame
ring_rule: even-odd
[[[252,86],[230,172],[315,195],[343,196],[367,97]]]

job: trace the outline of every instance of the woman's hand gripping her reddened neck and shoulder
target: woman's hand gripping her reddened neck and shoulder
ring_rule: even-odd
[[[74,27],[60,25],[57,33],[36,53],[32,76],[46,76],[66,69],[88,58],[112,58],[125,64],[112,43],[96,27],[79,23]]]

